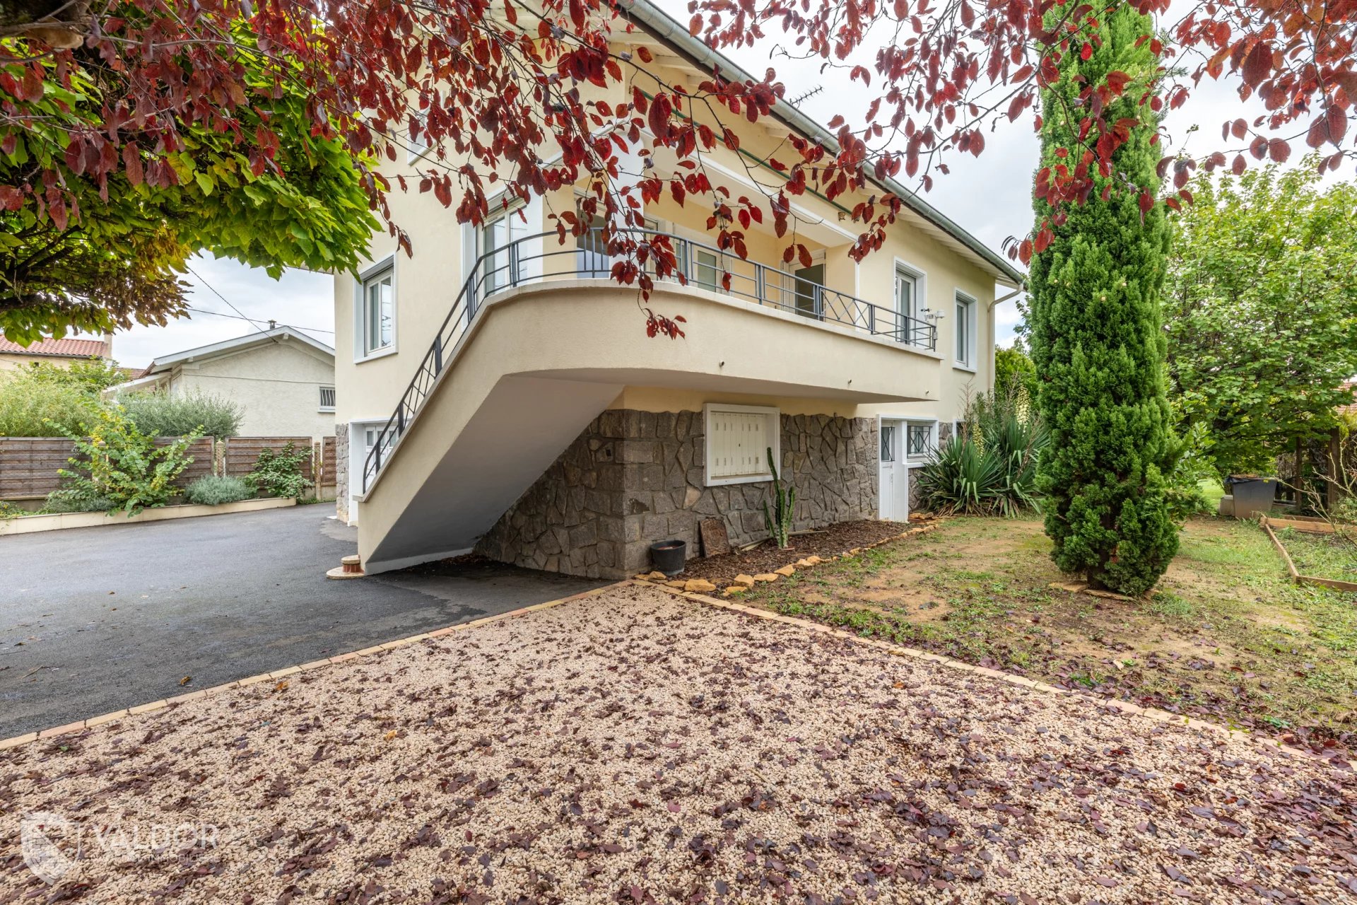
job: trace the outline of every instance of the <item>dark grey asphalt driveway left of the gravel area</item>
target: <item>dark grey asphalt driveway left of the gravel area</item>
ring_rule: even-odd
[[[498,564],[328,581],[357,550],[332,513],[0,537],[0,738],[600,585]]]

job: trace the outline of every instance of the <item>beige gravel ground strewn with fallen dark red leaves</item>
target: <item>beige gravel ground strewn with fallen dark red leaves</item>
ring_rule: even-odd
[[[0,902],[1350,902],[1354,791],[627,586],[0,753]]]

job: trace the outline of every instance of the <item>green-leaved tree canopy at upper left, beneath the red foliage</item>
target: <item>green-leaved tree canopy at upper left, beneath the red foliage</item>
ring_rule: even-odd
[[[232,121],[180,123],[168,149],[163,123],[110,100],[125,94],[126,76],[85,60],[92,52],[75,50],[84,65],[60,79],[50,73],[58,60],[0,54],[0,83],[37,85],[11,96],[0,121],[0,332],[27,343],[164,324],[183,313],[179,274],[204,250],[274,277],[357,266],[377,221],[351,157],[338,138],[313,134],[300,83],[275,87],[252,72],[254,39],[237,39],[229,90],[248,103]],[[265,126],[267,153],[237,141]],[[117,168],[71,144],[90,132],[117,136],[104,152]],[[46,201],[20,189],[34,174],[50,187]]]

